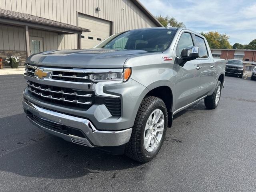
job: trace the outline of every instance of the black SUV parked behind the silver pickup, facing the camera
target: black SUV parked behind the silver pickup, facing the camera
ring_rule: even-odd
[[[240,78],[244,74],[244,63],[242,60],[238,59],[229,59],[226,62],[226,71],[225,74],[236,75]]]

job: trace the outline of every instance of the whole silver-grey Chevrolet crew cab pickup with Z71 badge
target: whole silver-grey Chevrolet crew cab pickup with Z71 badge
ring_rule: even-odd
[[[225,61],[185,28],[114,34],[92,49],[30,56],[22,101],[41,130],[83,146],[148,162],[172,117],[204,99],[214,109]]]

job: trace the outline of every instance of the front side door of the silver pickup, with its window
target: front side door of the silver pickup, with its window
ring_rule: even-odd
[[[182,49],[192,47],[194,41],[190,32],[183,32],[176,44],[174,54],[180,58]],[[200,50],[199,50],[200,52]],[[191,60],[184,66],[176,65],[176,104],[174,113],[182,110],[187,105],[201,97],[200,95],[200,76],[202,64],[200,60]]]

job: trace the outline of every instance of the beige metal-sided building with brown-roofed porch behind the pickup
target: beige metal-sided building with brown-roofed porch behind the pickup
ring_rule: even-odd
[[[111,34],[162,26],[138,0],[0,0],[0,57],[91,48]]]

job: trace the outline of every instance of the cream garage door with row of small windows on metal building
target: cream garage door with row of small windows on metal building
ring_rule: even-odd
[[[110,21],[79,14],[78,26],[91,31],[82,33],[83,49],[92,48],[110,36]]]

